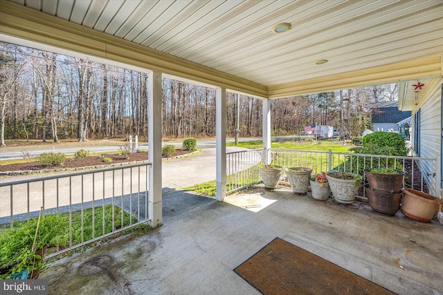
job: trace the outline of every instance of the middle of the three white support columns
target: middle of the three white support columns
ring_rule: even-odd
[[[226,196],[226,89],[217,88],[215,93],[217,200],[222,201]]]

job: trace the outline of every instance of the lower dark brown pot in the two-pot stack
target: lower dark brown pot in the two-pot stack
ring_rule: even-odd
[[[384,191],[375,191],[365,186],[365,195],[373,211],[388,216],[395,216],[400,209],[400,201],[403,193],[387,193]]]

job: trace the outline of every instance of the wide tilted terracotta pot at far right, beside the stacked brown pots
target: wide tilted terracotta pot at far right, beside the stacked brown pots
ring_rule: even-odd
[[[430,222],[442,201],[423,191],[415,189],[403,189],[403,191],[401,213],[420,222]]]

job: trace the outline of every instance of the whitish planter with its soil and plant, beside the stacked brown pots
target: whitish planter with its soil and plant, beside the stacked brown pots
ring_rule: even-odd
[[[326,173],[326,177],[332,192],[332,200],[343,204],[354,202],[357,190],[361,185],[360,175],[329,171]]]

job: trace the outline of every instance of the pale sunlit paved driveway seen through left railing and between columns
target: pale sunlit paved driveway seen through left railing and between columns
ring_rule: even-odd
[[[227,147],[226,151],[241,151],[242,149]],[[192,157],[163,161],[163,192],[182,191],[184,187],[215,180],[215,155],[216,149],[210,148],[204,149],[200,154]],[[72,178],[60,178],[60,181],[46,180],[44,184],[38,181],[31,183],[29,187],[26,187],[26,184],[16,185],[12,198],[13,215],[26,213],[28,209],[33,214],[38,214],[41,206],[44,206],[45,209],[57,206],[68,208],[69,204],[91,202],[101,198],[110,198],[113,195],[126,196],[135,193],[138,189],[142,192],[145,191],[145,169],[140,169],[139,178],[138,169],[132,170],[133,176],[130,175],[129,170],[125,170],[123,175],[119,170],[115,173],[107,171],[106,173],[84,175],[84,177],[80,175]],[[4,176],[0,177],[0,182],[42,178],[48,175]],[[105,184],[103,184],[104,182]],[[0,218],[7,218],[10,216],[11,206],[10,187],[0,187],[0,202]]]

